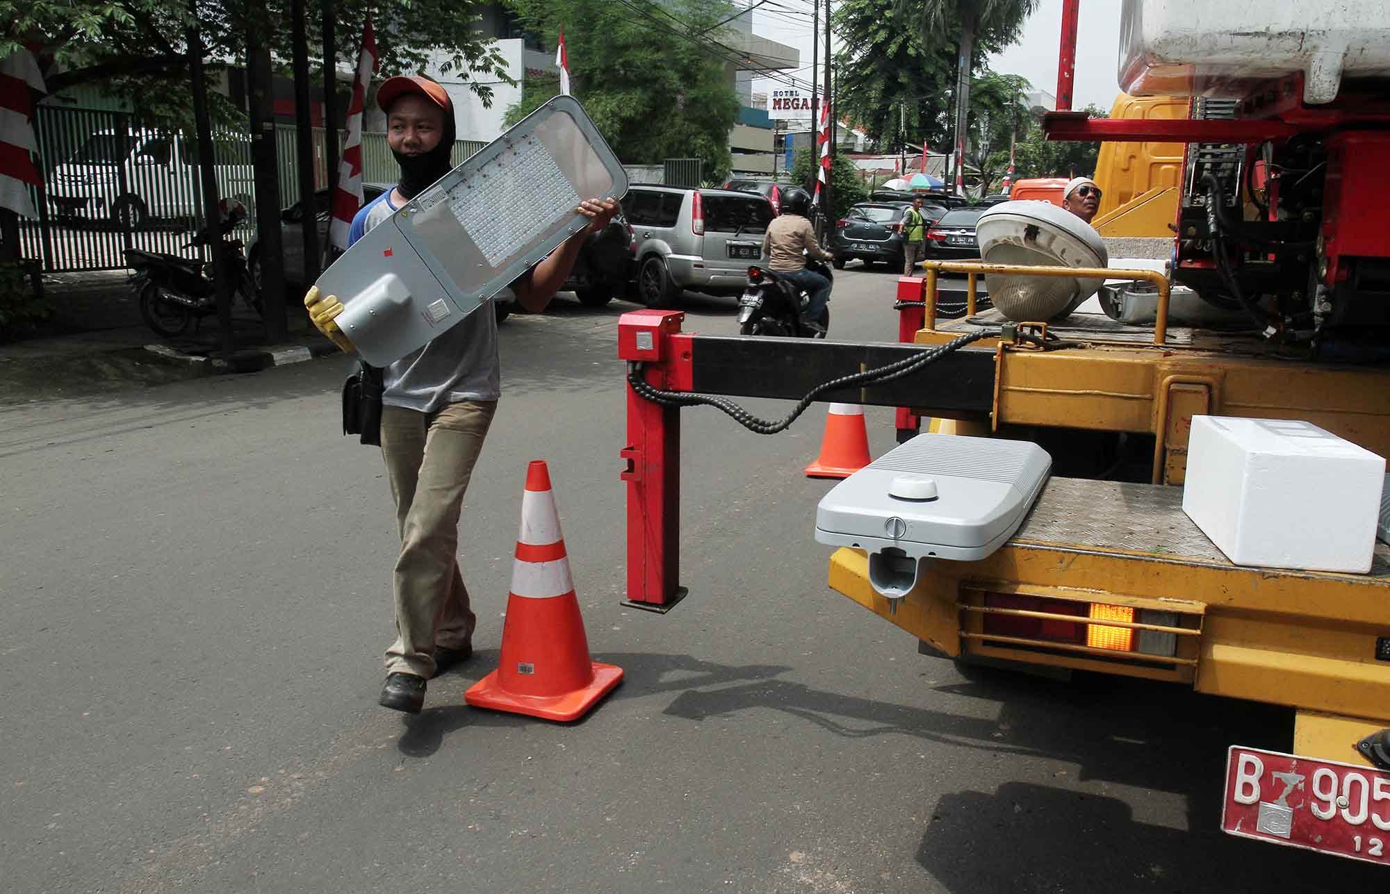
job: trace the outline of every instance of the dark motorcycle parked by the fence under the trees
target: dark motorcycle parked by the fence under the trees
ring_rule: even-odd
[[[232,282],[232,301],[240,296],[247,307],[263,317],[263,301],[246,269],[242,240],[232,237],[232,232],[246,218],[246,205],[224,200],[218,217],[221,219],[215,228],[208,224],[183,247],[208,246],[214,251],[221,251],[225,273]],[[139,296],[140,317],[158,335],[174,337],[188,329],[190,322],[217,314],[217,286],[213,282],[211,261],[126,248],[125,265],[133,271],[131,283]]]

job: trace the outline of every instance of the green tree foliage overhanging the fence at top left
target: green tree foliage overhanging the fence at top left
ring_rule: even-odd
[[[322,65],[322,28],[317,4],[306,3],[310,64]],[[352,64],[361,42],[363,22],[373,15],[377,51],[385,74],[417,72],[432,56],[445,71],[464,72],[484,103],[492,99],[489,81],[512,82],[496,44],[477,31],[481,4],[468,0],[336,0],[339,64]],[[197,0],[200,37],[208,57],[207,74],[242,62],[246,32],[254,28],[288,74],[292,56],[288,0]],[[188,115],[189,6],[174,0],[0,0],[0,58],[24,42],[57,62],[51,92],[99,85],[125,99],[146,119],[182,121]],[[215,94],[214,94],[215,96]],[[227,108],[222,107],[225,112]]]

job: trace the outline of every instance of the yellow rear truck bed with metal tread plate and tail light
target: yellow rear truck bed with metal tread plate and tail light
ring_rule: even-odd
[[[1382,639],[1390,637],[1390,550],[1376,544],[1366,575],[1237,566],[1183,512],[1179,487],[1054,478],[1012,540],[977,562],[935,562],[892,614],[858,550],[831,557],[830,586],[949,657],[1190,683],[1294,707],[1298,754],[1355,762],[1357,739],[1390,726],[1390,639]],[[1072,618],[991,607],[1017,597],[1073,607],[1083,626],[1087,605],[1162,612],[1173,621],[1130,627],[1169,632],[1176,652],[987,633],[990,616]]]

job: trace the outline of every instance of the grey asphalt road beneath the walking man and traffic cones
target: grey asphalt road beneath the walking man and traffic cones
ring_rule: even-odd
[[[892,340],[847,271],[834,335]],[[377,707],[391,497],[338,435],[346,358],[0,410],[0,887],[8,891],[1294,891],[1375,868],[1218,830],[1226,745],[1286,711],[970,670],[826,587],[788,433],[684,412],[681,577],[623,608],[617,317],[503,325],[464,509],[477,657]],[[688,330],[734,332],[689,296]],[[780,414],[780,404],[753,401]],[[876,453],[887,410],[867,414]],[[595,658],[587,719],[463,705],[496,665],[525,462],[550,464]]]

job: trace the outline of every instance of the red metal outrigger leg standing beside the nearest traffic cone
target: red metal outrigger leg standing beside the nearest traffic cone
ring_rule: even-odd
[[[617,325],[619,357],[644,364],[655,387],[671,387],[676,360],[671,335],[681,330],[681,311],[634,311]],[[624,605],[666,612],[685,597],[680,575],[680,408],[639,397],[627,386],[627,600]]]

